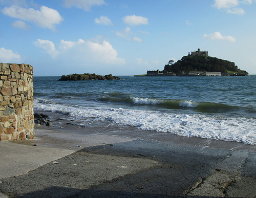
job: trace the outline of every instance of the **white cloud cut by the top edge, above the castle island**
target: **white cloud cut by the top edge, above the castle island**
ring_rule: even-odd
[[[252,4],[253,0],[215,0],[215,4],[212,5],[219,10],[224,10],[229,14],[243,15],[245,11],[238,6],[240,4]]]

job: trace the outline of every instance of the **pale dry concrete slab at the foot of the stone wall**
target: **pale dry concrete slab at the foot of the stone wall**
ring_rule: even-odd
[[[132,140],[134,139],[110,135],[78,135],[36,129],[35,139],[0,142],[0,178],[26,174],[84,147]]]

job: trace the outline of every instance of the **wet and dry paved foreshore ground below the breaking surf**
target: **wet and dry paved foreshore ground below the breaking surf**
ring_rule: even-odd
[[[50,119],[33,140],[0,142],[3,196],[256,196],[255,145]]]

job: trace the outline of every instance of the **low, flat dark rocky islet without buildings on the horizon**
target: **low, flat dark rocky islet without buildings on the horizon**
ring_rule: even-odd
[[[98,74],[69,74],[67,76],[63,75],[59,81],[68,81],[68,80],[120,80],[117,76],[112,76],[112,74],[101,76]]]

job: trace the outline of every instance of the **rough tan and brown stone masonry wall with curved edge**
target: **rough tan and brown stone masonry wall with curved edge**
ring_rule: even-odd
[[[34,138],[33,67],[0,63],[0,140]]]

